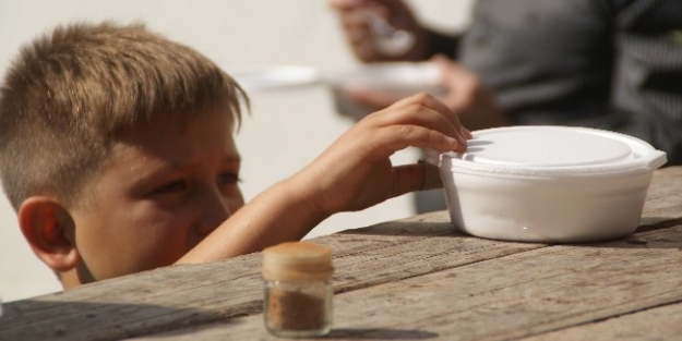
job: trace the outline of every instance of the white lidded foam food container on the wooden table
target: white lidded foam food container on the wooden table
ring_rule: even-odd
[[[594,242],[639,224],[651,172],[666,154],[623,134],[566,126],[474,132],[468,150],[438,155],[453,224],[523,242]]]

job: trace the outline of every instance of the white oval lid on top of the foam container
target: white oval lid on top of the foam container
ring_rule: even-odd
[[[452,171],[514,178],[599,176],[650,172],[666,154],[633,136],[587,127],[510,126],[476,131],[465,153],[447,153]],[[427,161],[439,162],[427,151]],[[443,167],[443,166],[442,166]]]

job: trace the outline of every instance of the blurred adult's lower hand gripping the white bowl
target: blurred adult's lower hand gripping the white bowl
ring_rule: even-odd
[[[508,125],[506,113],[498,106],[493,93],[475,73],[443,56],[435,56],[431,61],[441,72],[444,88],[438,98],[458,114],[462,124],[470,130]],[[374,110],[400,99],[400,96],[390,92],[366,88],[348,89],[346,96]]]

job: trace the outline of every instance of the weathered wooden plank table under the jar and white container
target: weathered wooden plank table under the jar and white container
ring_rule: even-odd
[[[682,338],[682,168],[655,172],[642,226],[622,240],[490,241],[442,211],[314,242],[334,251],[327,339]],[[5,303],[0,340],[274,339],[260,268],[252,254]]]

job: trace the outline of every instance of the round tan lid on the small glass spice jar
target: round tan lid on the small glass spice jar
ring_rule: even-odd
[[[309,242],[286,242],[263,251],[266,280],[312,281],[332,277],[332,249]]]

